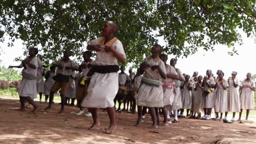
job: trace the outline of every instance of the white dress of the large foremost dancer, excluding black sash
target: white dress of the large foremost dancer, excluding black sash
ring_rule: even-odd
[[[111,43],[113,43],[112,40],[108,41],[108,43],[105,45],[111,45]],[[104,43],[104,37],[92,40],[89,42],[89,44],[102,44],[102,41]],[[124,48],[120,40],[115,40],[111,46],[113,46],[113,48],[126,59]],[[95,64],[118,65],[117,58],[114,57],[113,53],[104,51],[104,48],[97,52]],[[96,108],[113,107],[114,98],[118,93],[118,88],[118,72],[107,74],[100,74],[95,72],[91,77],[91,81],[88,87],[88,95],[84,98],[81,105],[84,107]]]

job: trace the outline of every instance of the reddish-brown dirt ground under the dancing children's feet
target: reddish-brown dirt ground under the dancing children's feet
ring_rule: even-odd
[[[118,128],[114,134],[104,134],[109,119],[100,111],[101,126],[88,130],[91,117],[77,116],[77,107],[66,106],[59,114],[60,105],[45,112],[46,104],[37,103],[37,114],[16,111],[19,100],[0,99],[0,143],[256,143],[255,123],[227,124],[181,118],[180,123],[149,129],[149,115],[141,127],[135,127],[136,114],[116,113]]]

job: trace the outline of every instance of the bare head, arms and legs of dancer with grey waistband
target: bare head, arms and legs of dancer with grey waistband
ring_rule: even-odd
[[[155,45],[151,49],[151,53],[152,53],[151,57],[153,59],[155,59],[160,55],[161,52],[162,52],[162,47],[160,47],[158,45]],[[166,79],[166,74],[164,73],[164,71],[162,71],[160,69],[159,65],[150,66],[147,62],[143,62],[139,69],[145,71],[145,69],[148,69],[148,68],[151,68],[152,70],[158,70],[162,79]],[[157,118],[157,115],[156,115],[155,108],[158,108],[158,107],[148,107],[148,109],[150,111],[150,115],[152,117],[152,121],[153,121],[153,125],[150,128],[158,128],[158,122],[157,122],[158,118]],[[141,116],[142,116],[142,106],[138,106],[138,119],[137,119],[136,126],[139,126],[141,124]]]

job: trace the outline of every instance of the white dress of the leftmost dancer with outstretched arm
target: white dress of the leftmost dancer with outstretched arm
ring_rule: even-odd
[[[43,66],[43,63],[37,57],[34,57],[30,61],[30,63],[35,65],[37,68],[42,68]],[[20,64],[20,66],[22,67],[22,64]],[[30,68],[30,66],[28,66],[28,64],[26,64],[26,67],[27,69],[22,69],[22,72],[33,76],[37,76],[37,68],[32,69]],[[21,97],[37,98],[37,79],[29,80],[23,77],[18,93]]]

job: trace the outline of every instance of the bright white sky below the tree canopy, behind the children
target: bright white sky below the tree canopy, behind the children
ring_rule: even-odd
[[[13,47],[8,47],[8,37],[5,38],[4,43],[0,43],[2,47],[2,53],[0,55],[1,63],[8,67],[9,65],[18,65],[20,62],[15,62],[14,58],[23,57],[22,41],[16,40]],[[254,38],[247,38],[246,34],[242,33],[243,45],[235,45],[239,55],[230,56],[228,52],[231,48],[224,45],[216,45],[214,52],[205,51],[200,49],[194,55],[187,58],[178,58],[176,67],[181,69],[182,73],[193,75],[194,71],[199,71],[199,75],[204,76],[207,69],[211,69],[213,74],[216,75],[216,71],[221,69],[224,71],[225,79],[231,76],[232,71],[237,71],[238,79],[245,79],[246,74],[251,72],[256,74],[256,65],[254,57],[256,57],[256,44]],[[164,45],[164,40],[159,40],[161,45]],[[125,46],[124,46],[125,47]],[[170,59],[174,56],[168,56],[168,64]],[[126,68],[126,71],[128,68]],[[133,70],[135,71],[135,70]]]

